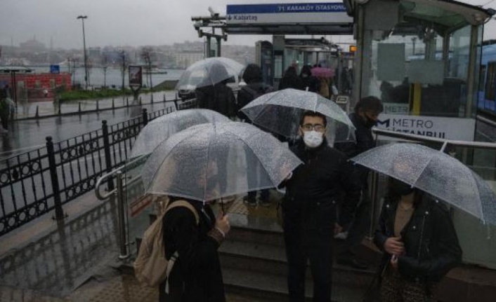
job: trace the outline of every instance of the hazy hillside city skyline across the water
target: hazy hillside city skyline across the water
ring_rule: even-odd
[[[103,46],[87,47],[89,67],[112,67],[126,64],[145,64],[145,54],[150,57],[152,67],[161,69],[185,69],[190,64],[204,58],[204,42],[185,41],[162,46]],[[215,45],[212,49],[215,48]],[[254,46],[222,45],[223,57],[229,57],[241,64],[254,62]],[[19,43],[18,46],[0,46],[0,65],[13,66],[62,66],[81,67],[84,64],[82,49],[63,49],[46,46],[33,39]]]

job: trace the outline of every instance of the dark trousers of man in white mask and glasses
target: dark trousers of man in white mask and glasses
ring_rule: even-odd
[[[290,302],[305,301],[305,273],[307,261],[313,277],[313,301],[330,302],[332,292],[331,228],[303,231],[301,227],[287,228],[285,245],[288,265],[287,287]]]

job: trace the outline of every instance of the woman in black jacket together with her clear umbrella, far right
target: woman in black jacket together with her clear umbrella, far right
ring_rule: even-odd
[[[411,135],[411,137],[415,137]],[[409,143],[386,144],[351,160],[391,177],[374,243],[383,250],[381,301],[431,301],[462,260],[450,213],[438,200],[496,224],[496,196],[456,158]]]

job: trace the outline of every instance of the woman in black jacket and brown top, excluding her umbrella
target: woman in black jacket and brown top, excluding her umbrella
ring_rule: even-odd
[[[436,283],[462,261],[448,210],[392,177],[374,243],[384,252],[379,266],[383,302],[433,301]]]

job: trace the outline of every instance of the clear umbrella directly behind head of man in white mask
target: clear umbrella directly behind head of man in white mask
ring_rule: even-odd
[[[289,88],[267,93],[249,102],[241,111],[254,124],[285,137],[298,134],[304,111],[320,112],[327,116],[326,137],[329,144],[355,140],[355,127],[346,112],[315,92]]]

